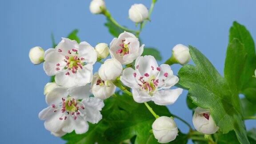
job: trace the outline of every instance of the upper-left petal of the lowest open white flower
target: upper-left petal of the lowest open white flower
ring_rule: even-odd
[[[68,96],[68,88],[65,87],[56,87],[45,97],[46,103],[48,105],[59,104],[62,98]]]

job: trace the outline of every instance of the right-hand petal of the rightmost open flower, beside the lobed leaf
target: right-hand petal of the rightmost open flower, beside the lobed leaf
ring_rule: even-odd
[[[164,73],[167,73],[167,77],[164,76]],[[179,82],[179,78],[173,75],[172,69],[168,64],[160,65],[160,74],[159,74],[159,84],[160,88],[171,88]]]

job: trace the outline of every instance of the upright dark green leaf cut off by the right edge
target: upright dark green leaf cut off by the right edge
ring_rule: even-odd
[[[236,84],[239,92],[256,104],[256,78],[252,78],[256,69],[256,55],[252,36],[243,25],[234,22],[230,28],[229,42],[232,43],[234,39],[241,44],[227,50],[225,77],[229,77],[227,80],[230,84]],[[235,76],[233,80],[231,76]]]

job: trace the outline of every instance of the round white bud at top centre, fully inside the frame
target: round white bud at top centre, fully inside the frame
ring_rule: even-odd
[[[135,23],[141,23],[148,18],[148,8],[143,4],[133,4],[129,9],[129,18]]]

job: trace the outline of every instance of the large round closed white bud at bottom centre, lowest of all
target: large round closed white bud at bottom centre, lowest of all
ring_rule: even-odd
[[[161,116],[152,124],[153,134],[159,143],[168,143],[176,139],[178,128],[172,118]]]

